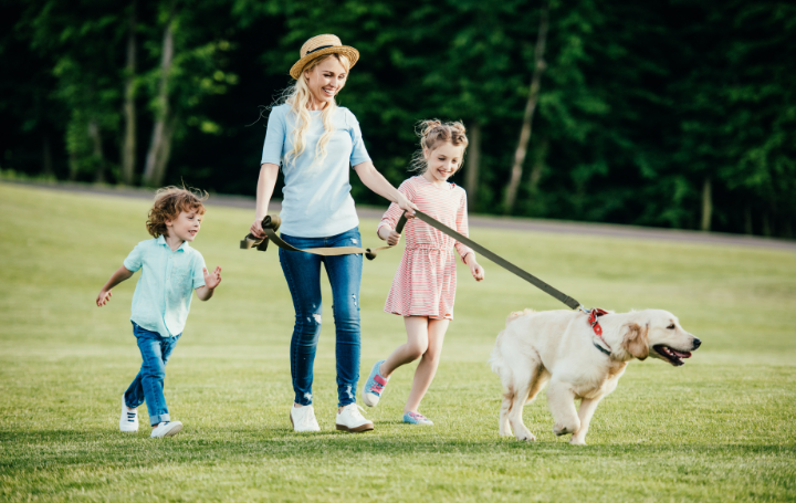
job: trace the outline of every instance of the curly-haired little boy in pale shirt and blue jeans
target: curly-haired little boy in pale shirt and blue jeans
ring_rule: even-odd
[[[137,408],[144,400],[153,438],[172,437],[182,429],[180,421],[171,421],[166,407],[166,363],[182,335],[192,291],[207,301],[221,283],[221,268],[209,274],[201,253],[188,244],[199,233],[206,198],[177,187],[158,190],[146,222],[154,239],[138,243],[97,295],[102,307],[111,300],[111,289],[143,269],[133,294],[130,322],[144,363],[122,395],[122,431],[138,431]]]

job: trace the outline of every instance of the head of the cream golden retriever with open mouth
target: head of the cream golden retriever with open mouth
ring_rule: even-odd
[[[667,311],[647,310],[636,314],[636,319],[625,325],[621,343],[625,352],[635,358],[650,356],[679,367],[702,344],[680,326],[677,316]]]

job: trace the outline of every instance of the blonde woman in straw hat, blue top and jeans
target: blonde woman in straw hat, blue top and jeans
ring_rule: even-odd
[[[295,248],[360,247],[359,219],[350,196],[349,166],[374,192],[411,210],[411,203],[374,167],[365,149],[359,123],[337,106],[359,52],[331,34],[304,42],[291,69],[294,85],[269,116],[251,232],[264,237],[262,219],[273,195],[280,165],[281,237]],[[320,256],[280,249],[280,264],[295,308],[291,339],[291,375],[295,399],[290,419],[295,431],[320,431],[312,401],[313,363],[321,334],[321,264],[332,285],[336,328],[337,429],[373,430],[356,404],[359,380],[359,285],[363,256]]]

